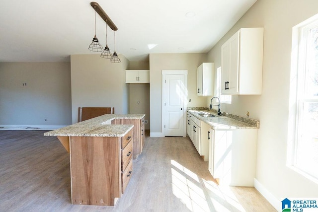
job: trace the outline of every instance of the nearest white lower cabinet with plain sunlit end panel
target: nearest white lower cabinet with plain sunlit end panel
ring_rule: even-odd
[[[254,186],[256,129],[210,129],[209,171],[220,184]]]

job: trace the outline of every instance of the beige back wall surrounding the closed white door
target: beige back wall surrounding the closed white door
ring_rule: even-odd
[[[188,107],[205,106],[206,98],[197,96],[197,67],[207,62],[207,54],[150,54],[151,134],[161,134],[162,70],[188,70]]]

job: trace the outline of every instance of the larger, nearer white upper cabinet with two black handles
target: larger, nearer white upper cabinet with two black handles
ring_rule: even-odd
[[[241,28],[221,47],[221,94],[262,94],[264,28]]]

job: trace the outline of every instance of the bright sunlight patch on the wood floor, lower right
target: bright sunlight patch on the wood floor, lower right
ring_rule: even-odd
[[[171,160],[172,192],[191,212],[245,212],[230,187],[204,180]]]

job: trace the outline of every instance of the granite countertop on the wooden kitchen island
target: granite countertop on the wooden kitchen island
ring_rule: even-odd
[[[145,114],[105,114],[64,128],[44,133],[44,136],[123,137],[134,125],[112,125],[114,119],[142,119]]]

